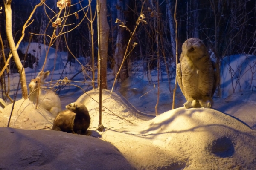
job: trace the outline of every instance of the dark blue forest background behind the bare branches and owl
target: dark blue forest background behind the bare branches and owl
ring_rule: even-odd
[[[32,9],[39,0],[13,0],[12,1],[12,30],[15,43],[21,36],[23,24],[28,19]],[[56,1],[57,2],[57,1]],[[23,42],[29,42],[30,33],[33,33],[31,42],[44,43],[49,45],[49,38],[52,35],[52,21],[54,12],[59,9],[56,2],[46,0],[44,6],[40,6],[33,15],[34,22],[25,30]],[[125,80],[130,74],[131,62],[140,60],[143,70],[147,72],[157,68],[157,63],[165,66],[170,78],[175,73],[175,0],[145,0],[142,9],[142,0],[107,0],[108,23],[110,26],[108,40],[108,68],[116,73],[121,65],[126,50],[126,45],[131,33],[136,26],[137,18],[141,12],[145,15],[145,22],[141,22],[136,34],[131,39],[137,45],[130,46],[128,51],[131,54],[125,60],[122,67],[121,80]],[[69,62],[74,57],[92,56],[94,52],[95,63],[97,62],[97,20],[93,22],[94,29],[94,50],[92,50],[92,37],[90,34],[90,8],[87,7],[88,0],[71,0],[72,6],[68,7],[70,15],[65,23],[64,31],[74,30],[60,36],[52,45],[58,51],[68,52]],[[3,2],[0,3],[0,34],[5,50],[9,48],[6,38],[5,13]],[[87,12],[85,17],[84,11]],[[96,0],[91,3],[92,15],[95,15]],[[76,13],[76,14],[74,14]],[[224,56],[247,53],[256,53],[256,1],[255,0],[178,0],[177,3],[178,22],[178,54],[180,55],[181,45],[191,37],[198,37],[204,41],[206,46],[215,54],[218,62]],[[120,27],[116,18],[121,20],[126,27]],[[79,25],[79,26],[78,26]],[[130,29],[130,32],[128,29]],[[37,34],[37,35],[36,35]],[[8,51],[8,50],[7,50]],[[72,53],[73,55],[70,55]],[[24,56],[20,54],[22,60]],[[35,62],[32,61],[32,62]],[[15,66],[14,66],[15,67]],[[166,69],[166,70],[165,70]]]

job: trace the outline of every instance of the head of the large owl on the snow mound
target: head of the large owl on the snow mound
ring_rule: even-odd
[[[182,53],[192,61],[200,60],[208,52],[204,42],[198,38],[189,38],[182,45]]]

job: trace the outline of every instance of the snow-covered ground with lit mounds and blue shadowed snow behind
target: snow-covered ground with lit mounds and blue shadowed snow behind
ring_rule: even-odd
[[[31,51],[37,53],[35,48],[36,46],[33,47],[34,51]],[[53,53],[55,54],[55,50],[52,50],[51,55]],[[70,79],[81,69],[77,65],[78,62],[72,63],[71,67],[64,68],[65,53],[56,54],[60,55],[63,61],[57,60],[60,63],[55,65],[55,71],[50,77],[53,81],[63,79],[65,76]],[[241,58],[247,60],[247,57]],[[66,169],[79,169],[80,165],[77,164],[82,164],[81,160],[86,160],[88,164],[94,164],[99,169],[104,169],[104,164],[108,164],[105,169],[130,169],[133,166],[136,169],[148,170],[252,170],[256,167],[256,143],[254,142],[256,131],[253,130],[256,129],[256,92],[251,90],[255,84],[255,78],[252,81],[250,78],[254,76],[252,70],[255,66],[248,64],[249,62],[247,64],[243,62],[243,66],[239,66],[239,60],[243,60],[241,58],[230,57],[229,60],[232,60],[228,63],[232,63],[229,64],[231,67],[221,65],[221,68],[227,68],[222,69],[221,72],[221,96],[224,97],[215,97],[212,109],[183,108],[185,98],[178,88],[175,99],[176,109],[171,110],[173,94],[170,89],[174,89],[174,82],[171,82],[171,87],[169,87],[169,82],[163,73],[164,81],[160,82],[157,106],[158,116],[155,116],[156,71],[151,72],[155,86],[153,82],[148,82],[147,76],[143,74],[142,70],[137,69],[133,77],[117,84],[118,86],[111,96],[109,90],[111,90],[114,77],[112,74],[108,74],[108,90],[104,90],[102,95],[104,132],[96,130],[99,124],[99,104],[96,102],[99,100],[99,91],[93,90],[90,86],[88,88],[90,80],[86,75],[80,73],[75,80],[80,79],[81,81],[83,78],[82,81],[88,82],[71,82],[71,84],[81,86],[86,93],[74,86],[66,86],[60,92],[62,108],[64,109],[65,105],[75,101],[85,104],[91,116],[90,135],[95,139],[64,132],[34,130],[51,128],[54,118],[44,109],[35,110],[35,105],[27,100],[19,100],[15,104],[10,127],[29,129],[29,131],[5,128],[12,109],[12,104],[8,105],[0,110],[2,112],[0,140],[1,143],[4,143],[0,146],[0,156],[2,156],[0,157],[0,168],[59,169],[58,167],[64,167],[62,165],[65,164]],[[255,56],[249,56],[249,58],[250,63],[253,63]],[[86,60],[81,62],[87,63]],[[49,62],[46,68],[53,68],[50,66],[51,63]],[[40,64],[38,70],[26,69],[28,83],[31,78],[34,78],[33,75],[37,75]],[[241,70],[241,68],[248,67],[250,67],[250,71]],[[229,70],[233,70],[233,72],[241,73],[237,75],[240,82],[239,86],[236,86],[234,94],[232,94],[232,87],[235,86],[232,86],[228,68],[231,68]],[[63,77],[59,74],[61,72],[65,73]],[[18,80],[17,74],[12,76],[11,95],[17,88]],[[233,85],[234,82],[233,79]],[[240,87],[242,92],[239,92]],[[18,99],[20,98],[21,95],[18,95]],[[10,142],[6,142],[5,139]],[[70,139],[71,141],[74,139],[73,144]],[[20,143],[19,141],[27,142]],[[100,148],[99,145],[95,146],[98,142],[99,145],[104,145],[100,142],[111,143],[120,153],[113,151],[114,147],[109,144],[106,144],[105,148]],[[19,143],[20,147],[15,147],[19,146]],[[15,149],[8,149],[13,147]],[[68,150],[69,147],[71,149]],[[51,157],[51,160],[47,158],[47,155]],[[122,155],[129,163],[123,159]],[[89,160],[88,157],[90,157]],[[6,161],[7,158],[9,161]],[[104,163],[99,164],[99,160],[104,160]],[[124,162],[123,166],[121,166],[122,162]]]

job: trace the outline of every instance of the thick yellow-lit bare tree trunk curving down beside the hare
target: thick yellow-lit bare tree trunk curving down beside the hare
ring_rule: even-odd
[[[22,97],[28,97],[28,90],[26,85],[26,75],[24,69],[22,69],[22,63],[20,61],[19,55],[16,50],[15,42],[12,36],[12,9],[11,9],[12,0],[4,0],[5,6],[5,14],[6,14],[6,35],[9,42],[10,49],[12,51],[12,55],[17,66],[17,69],[20,73],[20,83],[21,83],[21,91]]]

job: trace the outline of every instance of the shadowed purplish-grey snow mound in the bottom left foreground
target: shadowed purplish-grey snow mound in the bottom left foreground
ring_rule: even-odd
[[[133,170],[108,142],[53,130],[0,128],[0,169]]]

